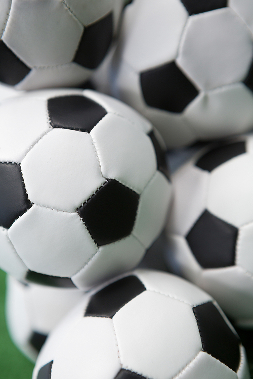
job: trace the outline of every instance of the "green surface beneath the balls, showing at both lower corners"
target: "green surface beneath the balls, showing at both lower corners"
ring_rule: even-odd
[[[15,347],[6,328],[5,278],[6,274],[0,270],[0,378],[31,379],[33,364]],[[253,379],[253,331],[239,329],[237,331],[246,348],[251,378]]]

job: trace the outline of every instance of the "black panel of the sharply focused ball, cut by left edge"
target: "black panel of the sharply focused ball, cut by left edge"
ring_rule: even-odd
[[[32,205],[28,200],[20,165],[0,162],[0,225],[9,228]]]

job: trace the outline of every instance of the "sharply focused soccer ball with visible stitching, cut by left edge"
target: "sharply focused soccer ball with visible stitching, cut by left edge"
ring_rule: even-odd
[[[0,267],[83,290],[133,269],[172,192],[151,124],[79,89],[6,100],[0,119]]]

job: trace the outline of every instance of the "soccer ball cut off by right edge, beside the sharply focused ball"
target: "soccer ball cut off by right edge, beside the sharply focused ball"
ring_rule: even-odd
[[[173,176],[170,253],[238,325],[253,327],[253,135],[209,145]]]

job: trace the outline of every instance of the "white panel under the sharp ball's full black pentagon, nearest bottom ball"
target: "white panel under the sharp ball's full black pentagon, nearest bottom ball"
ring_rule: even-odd
[[[133,235],[102,246],[79,272],[71,277],[74,285],[87,291],[105,280],[133,269],[142,259],[144,247]]]

